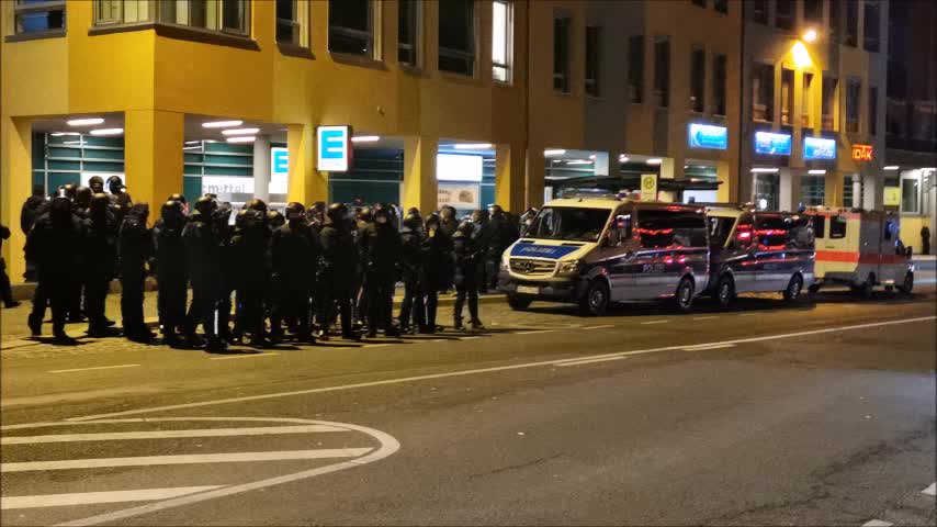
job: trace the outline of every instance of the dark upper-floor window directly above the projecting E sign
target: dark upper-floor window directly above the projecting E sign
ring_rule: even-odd
[[[329,0],[329,52],[376,58],[374,25],[371,0]]]

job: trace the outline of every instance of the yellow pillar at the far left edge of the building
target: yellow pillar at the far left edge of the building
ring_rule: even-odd
[[[22,282],[26,270],[23,259],[26,235],[20,228],[20,208],[33,192],[32,149],[32,122],[8,115],[0,117],[0,223],[10,227],[10,239],[3,240],[0,256],[13,283]]]

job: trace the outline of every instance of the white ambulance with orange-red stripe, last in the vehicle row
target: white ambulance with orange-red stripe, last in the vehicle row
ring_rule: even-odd
[[[899,238],[901,216],[892,212],[812,209],[816,237],[816,278],[813,290],[845,284],[862,296],[877,285],[914,289],[911,248]]]

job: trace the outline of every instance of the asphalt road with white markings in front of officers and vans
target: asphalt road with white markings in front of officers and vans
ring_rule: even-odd
[[[481,334],[260,354],[16,345],[0,522],[935,525],[919,291],[486,304]]]

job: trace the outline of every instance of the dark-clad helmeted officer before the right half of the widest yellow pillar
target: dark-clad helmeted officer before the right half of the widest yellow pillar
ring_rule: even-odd
[[[170,197],[171,198],[171,197]],[[185,296],[189,273],[185,267],[185,246],[182,231],[185,228],[185,211],[182,203],[169,200],[162,204],[160,218],[153,228],[156,242],[157,311],[162,344],[179,347],[179,333],[188,333],[185,321]]]

